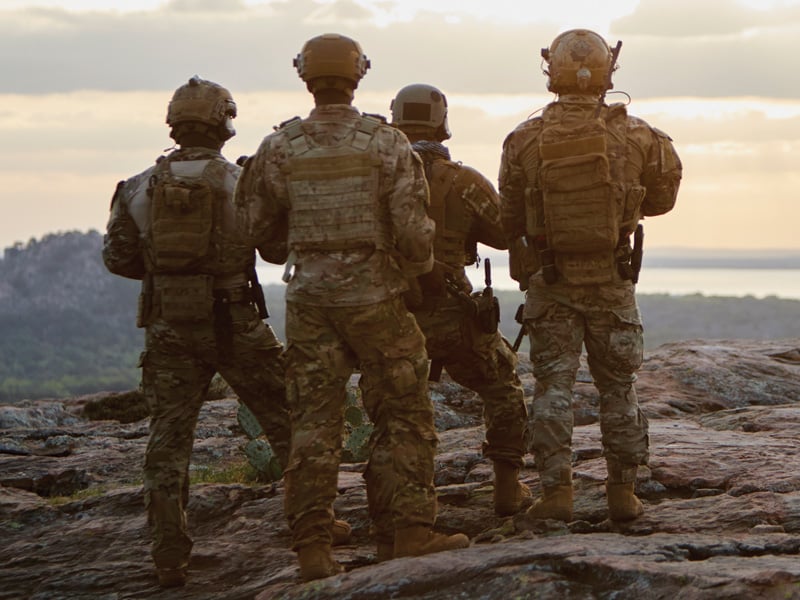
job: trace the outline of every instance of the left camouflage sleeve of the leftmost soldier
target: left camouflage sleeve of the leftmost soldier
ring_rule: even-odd
[[[103,236],[103,263],[115,275],[142,279],[145,275],[141,236],[128,212],[125,183],[120,181],[111,199],[111,214]]]

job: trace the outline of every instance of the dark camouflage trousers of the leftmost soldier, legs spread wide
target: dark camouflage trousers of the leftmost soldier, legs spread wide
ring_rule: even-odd
[[[289,454],[282,345],[247,303],[223,305],[214,322],[147,327],[142,388],[150,407],[144,495],[153,561],[179,568],[189,560],[186,525],[189,459],[209,383],[219,372],[258,419],[283,464]]]

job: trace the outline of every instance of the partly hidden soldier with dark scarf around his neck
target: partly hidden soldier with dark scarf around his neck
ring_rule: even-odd
[[[494,510],[508,516],[530,504],[530,489],[518,481],[524,465],[527,420],[517,356],[497,330],[493,300],[472,295],[464,267],[479,261],[477,244],[505,250],[500,198],[475,169],[454,162],[442,144],[450,138],[447,98],[426,84],[404,87],[391,103],[392,124],[406,134],[422,158],[430,188],[428,214],[436,222],[434,268],[412,282],[409,308],[425,335],[431,379],[442,368],[480,394],[486,440],[483,454],[494,465]]]

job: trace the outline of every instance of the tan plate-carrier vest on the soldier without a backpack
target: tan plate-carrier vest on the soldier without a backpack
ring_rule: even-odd
[[[282,127],[289,157],[282,168],[291,204],[289,248],[332,252],[391,247],[388,215],[379,205],[381,161],[370,145],[380,119],[362,116],[338,146],[317,144],[299,118]]]

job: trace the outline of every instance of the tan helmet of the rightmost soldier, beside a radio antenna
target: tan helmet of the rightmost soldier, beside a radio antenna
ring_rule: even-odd
[[[557,94],[603,94],[610,90],[612,53],[606,41],[588,29],[559,34],[550,48],[542,48],[547,61],[547,89]]]

